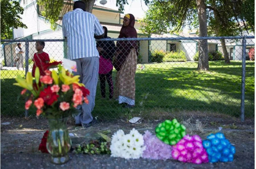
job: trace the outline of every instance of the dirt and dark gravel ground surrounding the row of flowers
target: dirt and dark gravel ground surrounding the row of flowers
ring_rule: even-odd
[[[112,158],[110,155],[75,155],[69,153],[70,160],[63,165],[55,165],[50,162],[49,154],[38,151],[43,133],[47,130],[47,121],[44,119],[17,120],[7,119],[3,122],[11,122],[9,125],[1,125],[1,168],[254,168],[254,124],[252,125],[228,125],[230,128],[222,130],[226,138],[236,147],[233,162],[187,164],[175,160],[125,160]],[[154,132],[153,129],[158,122],[129,124],[129,123],[98,123],[90,128],[74,127],[69,123],[69,132],[84,136],[92,131],[109,130],[109,136],[117,129],[128,132],[132,128],[141,133],[145,130]],[[233,126],[233,127],[232,127]],[[200,134],[205,136],[209,130],[216,130],[216,126],[203,125],[200,130],[190,124],[187,130],[189,134]]]

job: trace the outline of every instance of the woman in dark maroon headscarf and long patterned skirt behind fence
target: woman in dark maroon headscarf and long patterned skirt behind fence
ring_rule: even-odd
[[[135,18],[126,14],[118,38],[137,38],[134,28]],[[137,41],[117,41],[117,50],[113,66],[117,70],[114,98],[125,107],[135,106],[135,72],[137,68]]]

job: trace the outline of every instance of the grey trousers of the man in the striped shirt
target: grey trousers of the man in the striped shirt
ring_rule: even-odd
[[[73,72],[74,75],[80,75],[80,83],[83,83],[90,91],[90,95],[87,96],[89,104],[83,103],[82,105],[77,106],[79,114],[74,116],[75,124],[88,124],[93,119],[92,110],[95,106],[99,58],[88,57],[74,59],[74,61],[77,62],[77,72]]]

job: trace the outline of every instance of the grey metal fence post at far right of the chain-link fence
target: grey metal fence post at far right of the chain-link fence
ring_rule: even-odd
[[[246,39],[243,37],[242,41],[242,82],[241,82],[241,122],[244,122],[244,100],[245,100],[245,57],[246,57]]]

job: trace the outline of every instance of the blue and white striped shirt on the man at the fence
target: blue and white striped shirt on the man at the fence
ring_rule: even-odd
[[[94,34],[104,33],[99,20],[93,14],[75,9],[62,18],[62,33],[67,37],[68,59],[99,57]]]

